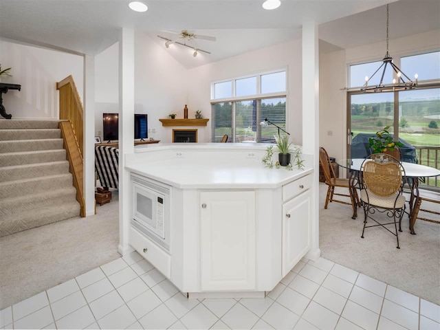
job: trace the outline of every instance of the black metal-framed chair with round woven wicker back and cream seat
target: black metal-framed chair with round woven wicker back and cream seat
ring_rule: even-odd
[[[364,228],[382,226],[395,235],[397,248],[399,249],[399,235],[397,233],[397,219],[399,219],[399,231],[401,232],[401,219],[405,211],[405,197],[402,195],[405,182],[405,170],[401,163],[394,157],[387,154],[373,154],[367,157],[361,166],[362,188],[360,200],[364,208]],[[383,223],[373,219],[372,214],[376,211],[392,217],[393,222]],[[367,219],[375,221],[376,224],[366,225]],[[386,228],[386,225],[394,223],[395,233]]]

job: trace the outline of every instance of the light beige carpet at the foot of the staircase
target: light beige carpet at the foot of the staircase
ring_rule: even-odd
[[[0,310],[120,257],[118,190],[96,210],[0,238]]]

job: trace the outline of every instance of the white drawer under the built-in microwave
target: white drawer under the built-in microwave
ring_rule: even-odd
[[[171,256],[152,243],[135,228],[130,228],[130,245],[159,270],[166,278],[171,277]],[[144,252],[145,251],[145,252]]]

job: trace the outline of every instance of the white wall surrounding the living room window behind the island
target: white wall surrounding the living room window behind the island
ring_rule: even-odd
[[[204,118],[210,118],[210,84],[212,82],[286,67],[288,72],[287,131],[291,134],[291,141],[294,144],[302,144],[301,39],[292,39],[287,43],[188,70],[188,77],[191,78],[188,92],[190,116],[193,115],[193,111],[199,109]],[[210,142],[210,122],[208,122],[208,129],[203,131],[203,139],[201,142]]]

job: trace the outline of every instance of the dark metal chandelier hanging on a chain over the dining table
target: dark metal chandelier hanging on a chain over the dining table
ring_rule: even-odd
[[[362,86],[362,88],[360,89],[364,93],[380,93],[386,91],[407,91],[409,89],[417,88],[418,75],[415,74],[414,76],[415,81],[412,81],[408,76],[406,76],[406,74],[404,74],[404,72],[401,71],[401,69],[399,69],[399,67],[397,67],[397,65],[393,63],[393,58],[388,53],[388,25],[389,25],[389,15],[388,15],[388,4],[387,4],[386,5],[386,55],[382,60],[382,65],[380,65],[380,67],[375,71],[375,73],[370,78],[368,76],[365,77],[365,85]],[[397,80],[396,78],[393,78],[393,83],[384,84],[382,82],[384,80],[386,67],[388,65],[390,65],[393,71],[395,72],[397,76]],[[377,72],[379,72],[379,70],[382,67],[384,69],[382,71],[382,76],[380,77],[379,85],[369,86],[369,81],[371,80],[371,78],[373,78],[373,76],[375,76],[375,74],[377,74]]]

